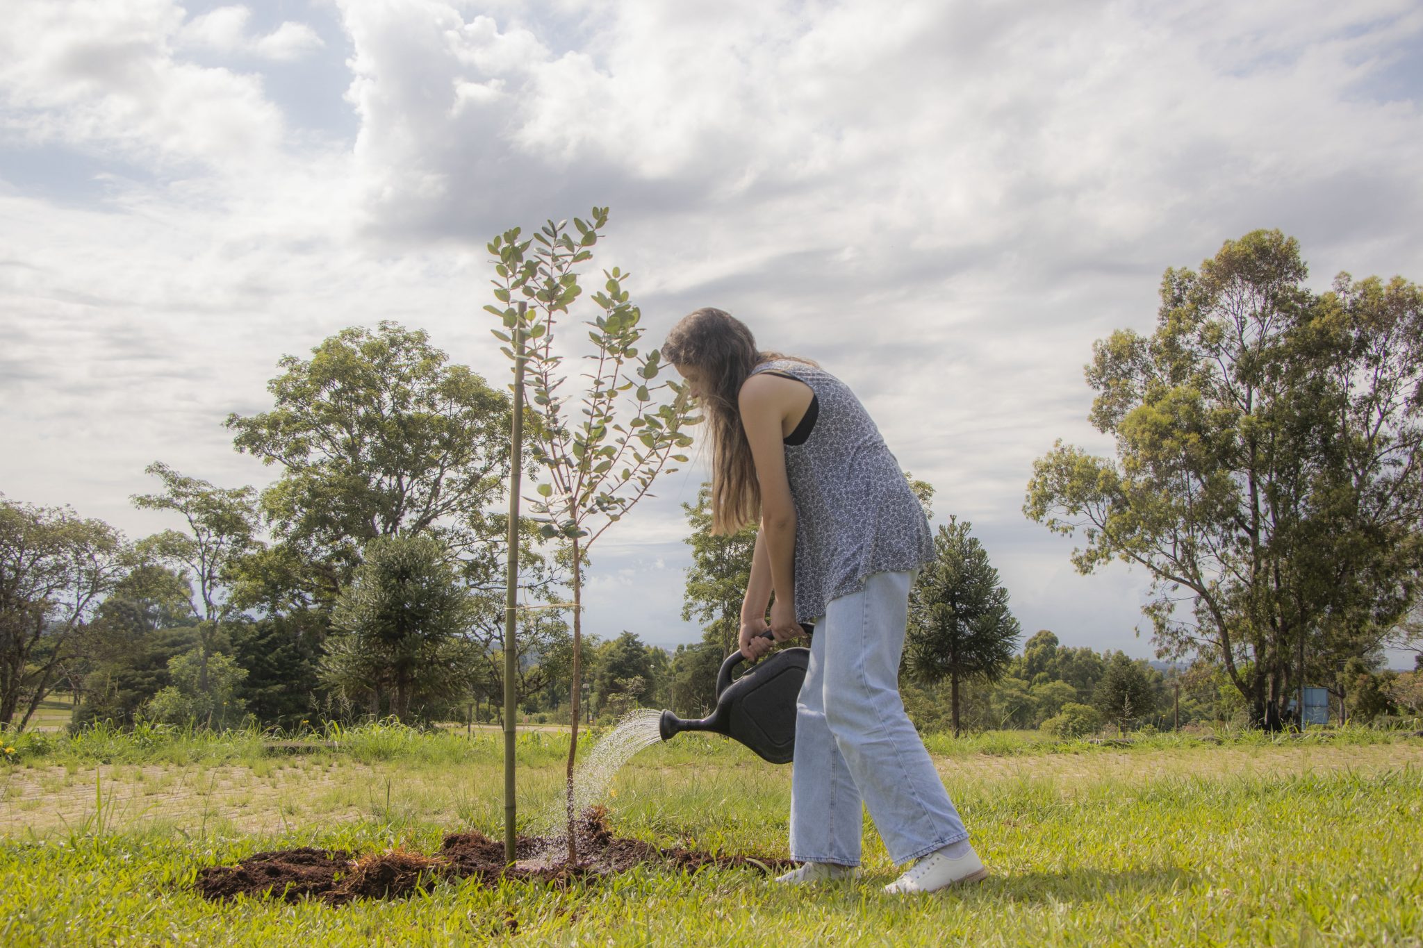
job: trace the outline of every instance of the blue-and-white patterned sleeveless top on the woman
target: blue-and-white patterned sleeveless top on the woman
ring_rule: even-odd
[[[932,561],[933,534],[899,462],[844,382],[791,360],[763,362],[751,374],[766,371],[805,382],[820,404],[810,438],[785,445],[795,500],[795,621],[811,623],[871,573]]]

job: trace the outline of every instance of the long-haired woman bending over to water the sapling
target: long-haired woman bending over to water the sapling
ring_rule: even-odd
[[[909,584],[933,559],[918,499],[855,395],[814,362],[756,348],[721,310],[692,313],[663,361],[687,381],[712,436],[712,520],[760,517],[741,604],[741,652],[813,623],[795,705],[791,858],[778,881],[858,874],[861,800],[898,863],[888,893],[976,881],[988,870],[899,701]],[[771,601],[771,594],[776,598]],[[770,623],[766,608],[770,604]]]

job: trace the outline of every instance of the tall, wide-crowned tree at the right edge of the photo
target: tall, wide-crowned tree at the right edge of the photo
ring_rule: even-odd
[[[1393,625],[1423,556],[1420,293],[1340,274],[1315,296],[1305,276],[1265,230],[1167,270],[1155,333],[1117,331],[1087,367],[1117,460],[1059,443],[1023,507],[1084,530],[1083,573],[1147,567],[1158,654],[1220,662],[1271,728],[1301,651],[1329,624]]]

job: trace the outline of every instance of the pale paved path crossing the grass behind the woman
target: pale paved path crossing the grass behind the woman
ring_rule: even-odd
[[[1423,767],[1423,740],[1358,746],[973,755],[936,758],[935,762],[951,793],[975,783],[1043,780],[1056,792],[1072,796],[1103,780],[1147,783],[1171,777],[1278,777],[1345,767],[1359,773]],[[713,758],[703,769],[721,766],[763,765],[743,760],[720,765]],[[776,773],[790,780],[790,767]],[[525,786],[539,782],[549,785],[545,789],[551,790],[561,767],[532,767],[525,775]],[[268,833],[363,817],[383,819],[387,804],[394,814],[443,822],[470,804],[475,785],[487,787],[494,800],[497,783],[501,785],[501,777],[490,765],[411,766],[400,760],[363,765],[330,758],[282,765],[262,762],[259,769],[240,763],[10,765],[0,766],[0,837],[63,834],[84,827],[122,830],[155,823],[188,831]]]

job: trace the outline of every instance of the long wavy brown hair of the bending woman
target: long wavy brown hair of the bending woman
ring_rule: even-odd
[[[699,406],[712,435],[712,533],[736,533],[761,515],[761,486],[737,397],[751,370],[785,358],[815,364],[757,350],[744,323],[712,307],[682,317],[662,344],[663,362],[697,368],[706,382]]]

